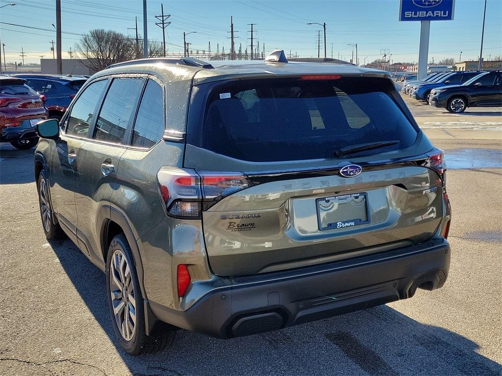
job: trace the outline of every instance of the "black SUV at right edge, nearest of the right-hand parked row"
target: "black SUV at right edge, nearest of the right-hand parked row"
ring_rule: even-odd
[[[429,104],[461,113],[467,107],[502,106],[500,71],[483,72],[462,85],[439,87],[431,91]]]

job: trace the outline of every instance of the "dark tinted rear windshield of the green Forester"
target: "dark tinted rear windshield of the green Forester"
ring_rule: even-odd
[[[258,162],[333,158],[339,150],[395,141],[352,153],[363,156],[404,149],[417,139],[417,130],[392,97],[390,80],[308,78],[216,86],[208,95],[202,129],[189,142]]]

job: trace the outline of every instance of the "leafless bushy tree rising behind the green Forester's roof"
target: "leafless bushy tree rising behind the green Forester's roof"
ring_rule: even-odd
[[[94,29],[80,38],[75,50],[82,64],[97,72],[110,64],[134,59],[135,42],[112,30]]]

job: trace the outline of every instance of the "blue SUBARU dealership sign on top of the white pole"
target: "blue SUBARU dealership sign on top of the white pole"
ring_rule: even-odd
[[[399,21],[453,20],[455,0],[401,0]]]

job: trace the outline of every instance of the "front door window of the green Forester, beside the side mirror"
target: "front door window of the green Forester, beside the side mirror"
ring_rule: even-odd
[[[107,83],[108,80],[100,80],[87,86],[71,109],[66,134],[78,137],[88,136],[97,103]]]

